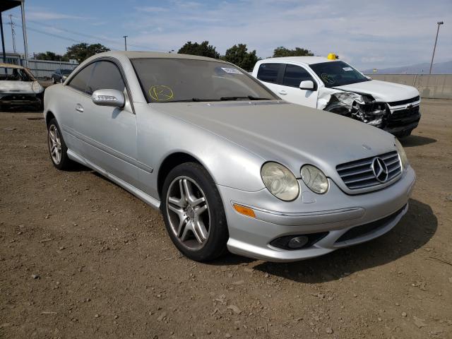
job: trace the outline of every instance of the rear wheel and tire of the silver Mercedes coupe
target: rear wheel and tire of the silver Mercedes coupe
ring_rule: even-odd
[[[56,119],[51,119],[47,125],[47,145],[49,146],[50,160],[52,160],[54,167],[61,170],[73,167],[74,162],[68,157],[68,148]]]

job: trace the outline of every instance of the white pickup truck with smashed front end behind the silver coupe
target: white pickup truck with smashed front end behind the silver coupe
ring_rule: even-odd
[[[260,60],[252,75],[284,100],[409,136],[420,121],[416,88],[372,80],[335,54]]]

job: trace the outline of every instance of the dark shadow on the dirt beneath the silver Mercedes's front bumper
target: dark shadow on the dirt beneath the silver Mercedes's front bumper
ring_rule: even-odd
[[[338,249],[318,258],[294,263],[263,262],[254,266],[254,269],[299,283],[325,283],[396,261],[427,244],[437,227],[438,220],[432,208],[410,199],[408,213],[393,230],[379,238]],[[251,261],[252,259],[231,255],[215,261],[215,265],[234,265]]]

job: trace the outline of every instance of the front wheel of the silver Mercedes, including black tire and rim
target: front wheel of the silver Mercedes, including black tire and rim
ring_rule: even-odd
[[[225,208],[212,177],[198,163],[186,162],[169,172],[161,210],[169,237],[187,258],[212,261],[226,252]]]

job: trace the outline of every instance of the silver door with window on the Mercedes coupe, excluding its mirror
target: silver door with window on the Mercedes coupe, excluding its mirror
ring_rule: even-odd
[[[126,81],[119,66],[109,60],[96,61],[85,94],[89,100],[77,102],[76,130],[83,140],[83,155],[107,174],[135,185],[136,115],[133,112]],[[123,108],[95,105],[90,95],[95,90],[114,89],[124,93]]]

